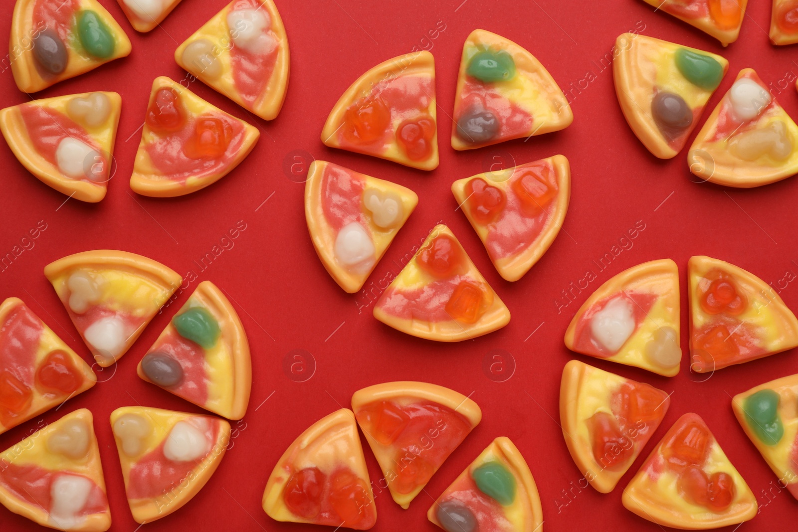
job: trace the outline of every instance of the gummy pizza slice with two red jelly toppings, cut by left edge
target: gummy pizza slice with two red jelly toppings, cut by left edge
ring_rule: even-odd
[[[97,383],[81,357],[18,298],[0,305],[0,434]]]

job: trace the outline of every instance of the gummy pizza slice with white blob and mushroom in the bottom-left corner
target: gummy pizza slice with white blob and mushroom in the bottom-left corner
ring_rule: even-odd
[[[70,412],[0,454],[0,502],[56,530],[108,530],[111,510],[92,413]]]

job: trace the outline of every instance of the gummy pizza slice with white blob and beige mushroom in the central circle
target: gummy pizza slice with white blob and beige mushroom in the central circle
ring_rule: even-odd
[[[418,204],[409,188],[338,164],[310,163],[305,218],[318,258],[354,294]]]

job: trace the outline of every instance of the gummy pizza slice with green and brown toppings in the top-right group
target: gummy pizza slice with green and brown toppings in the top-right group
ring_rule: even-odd
[[[615,93],[623,116],[649,152],[670,159],[685,147],[729,61],[634,33],[615,41]]]

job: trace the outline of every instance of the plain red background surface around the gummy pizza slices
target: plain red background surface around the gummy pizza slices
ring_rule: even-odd
[[[740,39],[728,49],[691,26],[655,13],[640,1],[460,2],[463,0],[279,1],[291,55],[288,96],[279,117],[271,122],[255,120],[202,83],[193,83],[192,91],[256,124],[262,136],[251,155],[219,183],[181,198],[150,199],[132,193],[127,181],[152,79],[161,75],[176,81],[184,79],[184,71],[172,58],[173,50],[227,2],[185,0],[161,28],[140,34],[132,30],[116,2],[101,0],[131,37],[131,55],[36,96],[92,90],[122,95],[114,153],[117,171],[107,197],[98,204],[74,199],[64,203],[65,195],[40,183],[14,159],[10,149],[0,147],[0,252],[6,254],[21,245],[22,238],[40,220],[46,224],[46,230],[32,241],[34,247],[0,273],[0,298],[18,296],[25,300],[85,360],[90,360],[88,350],[41,273],[45,264],[78,251],[110,248],[152,257],[184,277],[190,271],[197,276],[172,302],[172,308],[152,321],[118,367],[99,374],[103,382],[69,400],[58,412],[41,416],[52,422],[81,407],[94,413],[113,530],[136,530],[138,525],[124,498],[117,450],[107,421],[110,412],[132,404],[202,412],[144,383],[136,376],[135,367],[174,310],[204,279],[225,290],[247,329],[253,366],[250,408],[239,424],[232,448],[207,486],[183,509],[148,524],[147,530],[315,530],[314,526],[275,522],[263,513],[260,501],[267,477],[282,452],[306,427],[346,407],[359,388],[387,380],[427,380],[472,394],[484,417],[409,510],[394,504],[388,491],[375,491],[379,517],[373,530],[437,530],[425,517],[433,498],[499,435],[509,436],[529,463],[543,503],[545,530],[658,530],[657,525],[623,508],[621,488],[654,442],[685,412],[704,417],[757,495],[760,514],[741,530],[770,530],[798,514],[798,502],[778,489],[776,476],[742,432],[730,406],[731,396],[737,392],[798,371],[796,353],[726,368],[709,377],[689,372],[684,357],[681,373],[671,379],[583,358],[600,368],[673,392],[662,427],[609,495],[600,495],[591,487],[579,489],[581,475],[558,426],[560,373],[576,356],[564,348],[563,333],[590,292],[627,267],[665,257],[678,263],[683,330],[687,328],[685,270],[693,254],[722,258],[776,287],[780,282],[780,295],[798,309],[798,282],[784,286],[785,275],[794,278],[798,272],[798,180],[734,190],[697,183],[688,171],[685,152],[672,160],[657,160],[626,125],[615,98],[611,69],[603,69],[600,61],[610,53],[618,34],[640,30],[729,59],[729,74],[709,101],[705,116],[744,67],[757,69],[765,83],[772,84],[787,112],[798,116],[794,81],[785,82],[794,80],[798,73],[794,61],[798,48],[768,43],[770,2],[750,2]],[[13,3],[2,2],[0,41],[7,41]],[[471,152],[452,150],[448,116],[460,51],[465,37],[475,28],[500,33],[539,58],[569,95],[575,115],[569,128],[527,142],[517,140]],[[319,140],[322,124],[350,83],[366,69],[408,53],[414,46],[432,46],[437,61],[440,167],[432,172],[416,171],[323,146]],[[592,81],[586,84],[586,79]],[[10,69],[0,73],[0,94],[4,105],[30,100],[14,85]],[[420,244],[442,220],[507,303],[512,312],[510,324],[474,341],[446,345],[389,329],[370,315],[370,305],[359,308],[369,303],[365,292],[345,294],[314,253],[302,208],[301,169],[309,160],[307,156],[294,160],[295,150],[417,191],[417,210],[369,279],[375,286],[389,270],[397,273],[398,259]],[[573,172],[571,207],[563,231],[523,279],[504,282],[462,213],[455,211],[449,186],[455,179],[484,171],[492,163],[522,164],[555,153],[568,157]],[[292,163],[298,165],[292,169]],[[593,261],[618,244],[638,221],[645,224],[645,230],[630,240],[630,249],[623,250],[609,268],[599,271]],[[222,241],[237,224],[246,224],[246,229],[238,238]],[[27,245],[30,248],[30,242]],[[201,270],[197,263],[212,253],[214,246],[219,246],[217,253],[223,246],[229,249]],[[575,302],[558,312],[555,301],[562,297],[561,290],[583,278],[588,269],[598,278],[575,296]],[[377,291],[374,288],[375,294]],[[687,348],[686,334],[681,346]],[[297,382],[300,377],[284,371],[284,357],[294,349],[312,353],[315,371],[310,380]],[[512,377],[504,382],[496,382],[496,376],[492,380],[491,373],[483,369],[486,355],[495,349],[504,350],[507,367],[511,359],[516,364]],[[306,360],[309,373],[312,363],[310,358]],[[39,422],[39,418],[30,420],[0,435],[0,448],[17,443]],[[366,446],[365,439],[363,444]],[[365,455],[371,479],[377,484],[381,479],[377,463],[370,451]],[[0,516],[4,530],[36,528],[5,508],[0,509]]]

